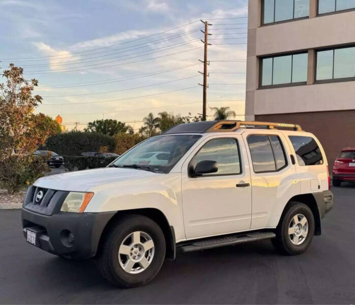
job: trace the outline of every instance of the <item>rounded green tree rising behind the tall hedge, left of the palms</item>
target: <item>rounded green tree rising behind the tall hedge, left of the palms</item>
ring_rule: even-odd
[[[97,119],[88,123],[84,131],[94,131],[104,135],[113,136],[116,133],[132,133],[132,127],[115,119]]]

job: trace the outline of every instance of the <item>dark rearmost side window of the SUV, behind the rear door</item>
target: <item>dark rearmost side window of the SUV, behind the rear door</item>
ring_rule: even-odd
[[[323,156],[312,137],[288,136],[300,166],[323,164]]]

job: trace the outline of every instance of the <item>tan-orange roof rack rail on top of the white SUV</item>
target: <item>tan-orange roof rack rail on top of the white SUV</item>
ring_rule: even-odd
[[[234,131],[240,129],[241,126],[260,126],[267,127],[268,129],[275,129],[276,127],[290,128],[295,131],[302,131],[302,128],[298,124],[288,124],[288,123],[272,123],[272,122],[258,122],[258,121],[241,121],[241,120],[219,120],[216,121],[210,128],[205,130],[205,132],[220,132],[220,131]]]

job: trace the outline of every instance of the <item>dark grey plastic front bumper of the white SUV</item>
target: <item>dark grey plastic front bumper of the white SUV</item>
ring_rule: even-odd
[[[51,216],[22,209],[23,235],[27,228],[38,232],[38,247],[47,252],[71,258],[96,255],[101,234],[116,212],[73,213],[58,212]],[[74,235],[69,243],[68,233]]]

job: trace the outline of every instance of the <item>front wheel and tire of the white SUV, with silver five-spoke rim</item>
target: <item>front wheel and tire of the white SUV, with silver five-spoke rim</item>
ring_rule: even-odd
[[[127,215],[104,236],[97,263],[108,282],[132,288],[151,281],[157,275],[164,262],[165,250],[165,237],[157,223],[144,216]]]

